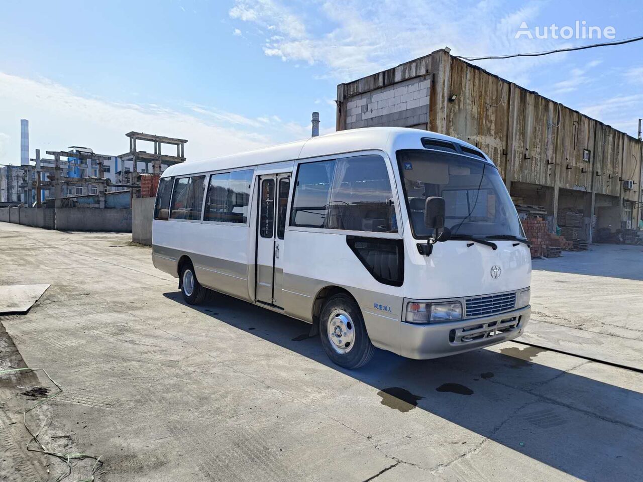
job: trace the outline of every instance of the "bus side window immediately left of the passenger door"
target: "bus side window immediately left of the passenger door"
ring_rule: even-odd
[[[210,176],[204,220],[248,222],[248,204],[253,169]]]

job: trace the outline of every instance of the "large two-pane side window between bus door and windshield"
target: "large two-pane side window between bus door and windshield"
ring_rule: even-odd
[[[383,157],[345,157],[300,165],[291,225],[397,232]]]

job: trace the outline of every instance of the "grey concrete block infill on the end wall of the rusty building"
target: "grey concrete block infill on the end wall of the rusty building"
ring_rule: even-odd
[[[426,125],[430,83],[428,78],[415,77],[351,97],[346,103],[346,128]]]

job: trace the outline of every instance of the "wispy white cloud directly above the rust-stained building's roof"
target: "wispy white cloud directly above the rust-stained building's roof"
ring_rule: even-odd
[[[422,0],[327,0],[312,6],[317,10],[309,13],[309,17],[319,17],[330,24],[330,28],[321,30],[317,18],[310,22],[311,28],[307,28],[302,15],[278,0],[237,0],[230,17],[258,26],[275,26],[279,35],[266,39],[262,46],[265,55],[305,62],[309,66],[323,64],[326,68],[316,74],[316,78],[331,77],[342,82],[447,45],[453,55],[473,57],[543,50],[556,42],[514,39],[521,21],[537,17],[541,4],[536,2],[508,12],[506,4],[499,5],[493,0],[480,1],[469,9],[453,8],[450,0],[430,5]],[[291,24],[298,27],[293,29]],[[564,57],[521,58],[480,62],[480,65],[493,67],[494,73],[514,82],[528,84],[532,69],[560,62]]]

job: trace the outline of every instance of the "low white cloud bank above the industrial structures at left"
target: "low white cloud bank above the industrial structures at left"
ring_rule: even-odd
[[[275,143],[264,129],[258,129],[258,121],[238,114],[199,106],[191,114],[152,105],[108,102],[80,96],[49,80],[5,73],[0,73],[0,105],[0,164],[20,163],[20,119],[30,121],[32,156],[35,148],[44,155],[45,150],[71,145],[86,145],[101,154],[123,154],[129,148],[125,132],[130,130],[188,139],[188,161]]]

